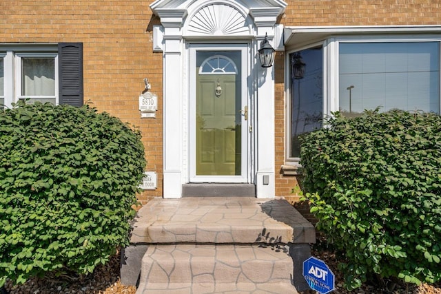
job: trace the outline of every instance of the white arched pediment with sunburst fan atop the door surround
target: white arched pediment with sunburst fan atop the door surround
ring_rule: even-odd
[[[282,0],[156,0],[150,8],[183,36],[250,36],[252,27],[274,25],[286,6]]]

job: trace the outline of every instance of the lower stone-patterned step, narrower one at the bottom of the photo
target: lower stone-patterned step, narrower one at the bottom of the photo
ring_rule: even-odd
[[[288,251],[264,244],[149,246],[136,294],[297,293]]]

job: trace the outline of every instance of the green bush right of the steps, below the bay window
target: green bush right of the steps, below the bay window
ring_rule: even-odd
[[[346,286],[371,274],[441,279],[441,117],[391,111],[336,113],[302,138],[303,189],[334,246]]]

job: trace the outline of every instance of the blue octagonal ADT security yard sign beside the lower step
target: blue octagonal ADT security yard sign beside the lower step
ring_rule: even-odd
[[[311,289],[321,294],[334,290],[334,273],[318,258],[308,258],[303,262],[303,277]]]

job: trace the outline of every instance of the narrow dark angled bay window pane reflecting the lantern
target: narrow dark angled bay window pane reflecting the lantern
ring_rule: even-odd
[[[289,54],[289,157],[300,157],[298,137],[322,127],[323,50],[322,46]]]

